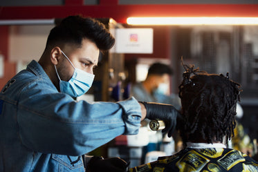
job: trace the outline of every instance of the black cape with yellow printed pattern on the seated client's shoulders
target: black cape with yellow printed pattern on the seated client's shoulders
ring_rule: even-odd
[[[129,172],[257,172],[258,163],[233,149],[183,149],[157,161],[129,169]]]

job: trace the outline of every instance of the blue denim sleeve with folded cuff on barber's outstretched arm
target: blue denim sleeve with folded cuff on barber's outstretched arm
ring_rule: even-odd
[[[21,91],[17,123],[21,142],[42,153],[82,155],[118,135],[137,134],[141,111],[131,97],[122,102],[75,102],[40,82]]]

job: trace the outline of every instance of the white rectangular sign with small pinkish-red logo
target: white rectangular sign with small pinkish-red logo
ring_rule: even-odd
[[[115,52],[151,54],[153,52],[153,29],[117,28]]]

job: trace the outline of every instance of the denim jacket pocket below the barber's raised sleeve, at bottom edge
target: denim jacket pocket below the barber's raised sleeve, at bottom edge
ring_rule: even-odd
[[[82,157],[52,154],[53,160],[59,163],[59,171],[84,171]]]

